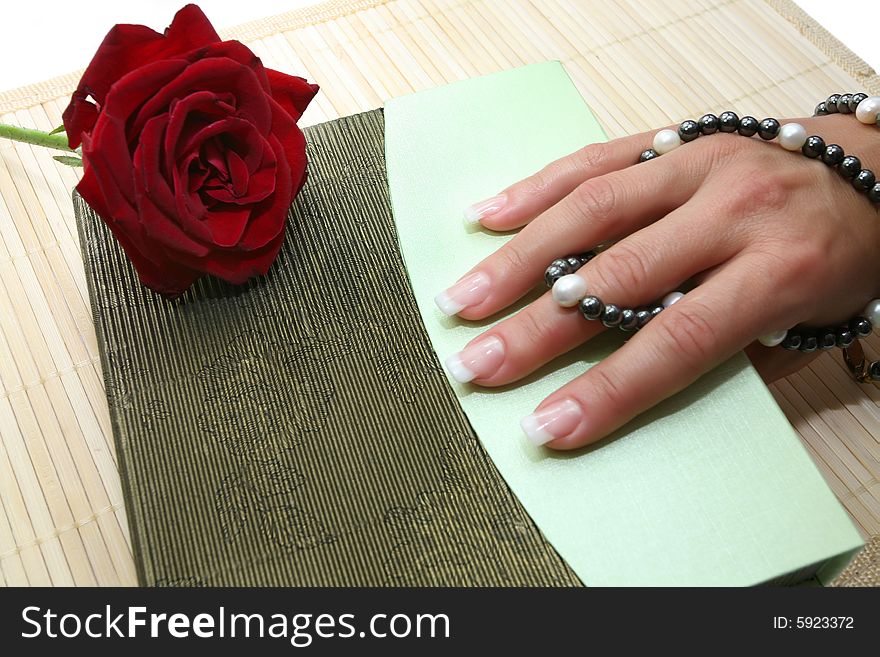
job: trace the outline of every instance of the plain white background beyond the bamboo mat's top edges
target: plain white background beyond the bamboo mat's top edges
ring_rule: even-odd
[[[4,0],[0,12],[0,90],[85,68],[115,23],[162,31],[187,0],[51,0],[33,11]],[[662,0],[653,0],[661,2]],[[314,0],[199,0],[217,28],[318,4]],[[798,0],[798,4],[875,69],[880,69],[880,1]],[[735,63],[732,63],[735,66]]]

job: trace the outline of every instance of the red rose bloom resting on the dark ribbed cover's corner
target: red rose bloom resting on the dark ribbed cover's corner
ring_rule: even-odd
[[[176,296],[202,274],[265,274],[305,182],[296,121],[318,87],[221,41],[195,5],[165,34],[117,25],[80,80],[64,127],[82,143],[77,189],[147,287]]]

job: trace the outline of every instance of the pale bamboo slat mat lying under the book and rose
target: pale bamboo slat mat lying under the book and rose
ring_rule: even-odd
[[[547,59],[565,64],[610,137],[710,110],[803,116],[834,91],[880,93],[877,75],[787,0],[356,0],[225,36],[321,84],[305,125]],[[0,94],[0,122],[53,128],[77,80]],[[7,585],[136,581],[70,198],[76,183],[48,152],[0,143]],[[870,343],[880,352],[880,340]],[[880,390],[850,381],[831,354],[772,390],[855,522],[880,534]],[[875,539],[841,583],[877,583],[878,558]]]

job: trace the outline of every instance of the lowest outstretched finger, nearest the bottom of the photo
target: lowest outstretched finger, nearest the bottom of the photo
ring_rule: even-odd
[[[781,311],[759,302],[774,298],[774,288],[770,277],[754,275],[755,260],[731,261],[623,347],[544,400],[522,421],[528,437],[554,449],[595,442],[743,349],[767,325],[767,314],[771,322],[779,321]]]

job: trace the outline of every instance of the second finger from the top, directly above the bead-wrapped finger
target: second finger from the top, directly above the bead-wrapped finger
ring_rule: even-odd
[[[554,258],[629,235],[681,206],[707,173],[705,158],[679,156],[684,150],[581,184],[437,295],[437,305],[465,319],[488,317],[534,288]]]

